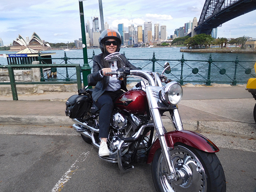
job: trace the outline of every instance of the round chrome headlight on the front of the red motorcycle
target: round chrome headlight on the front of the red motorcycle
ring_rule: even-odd
[[[183,90],[178,82],[167,83],[161,90],[162,101],[169,105],[177,105],[183,96]]]

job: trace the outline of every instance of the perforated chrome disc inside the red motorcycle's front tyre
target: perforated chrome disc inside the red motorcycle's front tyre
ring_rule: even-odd
[[[187,147],[178,145],[170,151],[170,156],[178,177],[177,181],[167,180],[167,168],[163,154],[158,161],[158,179],[163,191],[206,192],[205,170],[196,155]]]

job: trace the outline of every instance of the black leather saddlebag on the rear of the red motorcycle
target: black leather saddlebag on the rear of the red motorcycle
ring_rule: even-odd
[[[66,101],[66,115],[70,118],[82,118],[90,110],[90,95],[72,95]]]

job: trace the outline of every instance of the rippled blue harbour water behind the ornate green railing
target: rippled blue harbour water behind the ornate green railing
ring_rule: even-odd
[[[156,59],[161,60],[180,60],[182,58],[182,53],[179,51],[179,48],[121,48],[120,53],[125,53],[125,56],[129,59],[152,59],[153,53],[155,53]],[[100,49],[87,49],[88,57],[92,57],[93,51],[95,55],[101,53]],[[42,52],[55,52],[55,55],[52,55],[52,58],[62,58],[64,57],[64,50],[50,50]],[[1,54],[13,54],[14,52],[10,51],[0,51]],[[83,58],[82,49],[71,49],[71,51],[66,51],[66,56],[70,58]],[[184,52],[185,60],[204,60],[207,61],[210,57],[210,53],[186,53]],[[238,57],[239,62],[236,72],[236,80],[238,82],[246,82],[249,78],[253,78],[255,75],[254,63],[256,62],[256,54],[232,54],[232,53],[212,53],[211,54],[213,62],[211,65],[211,82],[228,82],[232,81],[234,78],[235,72],[235,63],[234,62],[224,62],[224,61],[235,61]],[[63,62],[63,60],[53,60],[56,64]],[[130,62],[140,68],[143,68],[147,71],[152,71],[152,62],[149,60],[130,60]],[[163,71],[163,65],[166,61],[156,61],[155,62],[155,72]],[[172,68],[171,74],[168,74],[167,77],[173,80],[180,80],[181,78],[181,63],[178,61],[168,61]],[[63,62],[64,63],[64,62]],[[68,60],[68,63],[79,63],[83,66],[83,59],[71,59]],[[0,57],[0,64],[7,65],[7,58]],[[89,60],[89,65],[92,68],[92,62]],[[185,82],[194,81],[193,84],[200,84],[196,81],[206,81],[208,77],[208,62],[198,62],[198,61],[185,61],[183,67],[182,78]],[[198,68],[198,74],[193,74],[192,69]],[[220,70],[225,69],[226,73],[220,75]],[[246,69],[251,69],[251,74],[245,74]],[[249,70],[250,71],[250,70]],[[66,75],[66,70],[59,68],[58,72],[63,76]],[[75,70],[68,69],[69,77],[71,77]],[[75,75],[74,75],[75,78]]]

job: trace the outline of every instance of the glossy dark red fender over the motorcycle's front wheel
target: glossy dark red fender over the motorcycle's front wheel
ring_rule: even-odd
[[[183,143],[188,146],[197,148],[202,151],[206,151],[208,153],[215,153],[218,152],[219,149],[216,145],[214,145],[213,142],[211,142],[209,139],[207,139],[205,136],[200,135],[199,133],[188,131],[188,130],[181,130],[181,131],[172,131],[165,134],[167,145],[170,148],[173,148],[175,143]],[[157,139],[151,150],[149,151],[148,155],[148,161],[147,163],[151,163],[155,154],[155,151],[157,151],[159,148],[161,148],[159,139]]]

